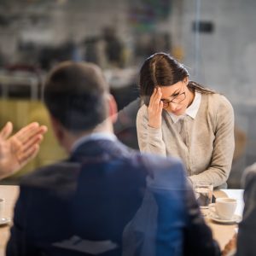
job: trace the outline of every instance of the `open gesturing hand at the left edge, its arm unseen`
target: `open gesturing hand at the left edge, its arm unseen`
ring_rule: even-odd
[[[15,174],[38,154],[47,128],[34,122],[9,137],[12,131],[11,122],[0,131],[0,179]]]

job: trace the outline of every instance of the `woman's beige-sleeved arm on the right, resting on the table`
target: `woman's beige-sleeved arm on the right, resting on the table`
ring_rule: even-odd
[[[217,103],[212,161],[206,171],[189,177],[192,183],[207,181],[212,183],[213,187],[217,187],[227,181],[235,149],[233,108],[225,98]]]

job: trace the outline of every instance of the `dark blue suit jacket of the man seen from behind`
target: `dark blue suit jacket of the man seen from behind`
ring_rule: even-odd
[[[90,140],[20,184],[7,255],[218,255],[179,160]]]

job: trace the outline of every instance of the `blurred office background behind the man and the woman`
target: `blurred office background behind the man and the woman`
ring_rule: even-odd
[[[117,135],[137,148],[137,73],[146,57],[165,51],[183,62],[190,79],[233,104],[229,186],[238,188],[245,166],[256,160],[255,11],[253,0],[0,0],[0,125],[49,125],[45,74],[59,61],[92,61],[124,109]],[[37,159],[3,182],[64,156],[49,129]]]

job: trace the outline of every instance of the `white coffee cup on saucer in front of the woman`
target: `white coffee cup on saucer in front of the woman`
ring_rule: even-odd
[[[231,219],[236,211],[236,199],[228,197],[219,197],[215,201],[215,212],[219,218]]]

